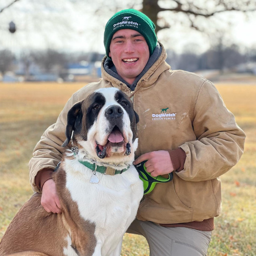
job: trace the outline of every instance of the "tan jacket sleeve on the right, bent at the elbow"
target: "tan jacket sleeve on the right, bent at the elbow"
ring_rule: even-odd
[[[176,174],[188,181],[217,178],[239,161],[245,134],[209,81],[199,90],[192,116],[197,140],[180,145],[186,152],[186,161],[184,169]]]

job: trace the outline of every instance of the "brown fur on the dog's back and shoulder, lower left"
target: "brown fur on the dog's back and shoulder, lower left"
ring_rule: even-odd
[[[80,255],[93,254],[96,246],[95,225],[80,217],[78,206],[66,189],[66,174],[61,166],[54,173],[53,179],[63,208],[62,213],[46,212],[41,206],[41,194],[35,193],[7,228],[0,243],[1,256],[11,253],[61,256],[64,255],[63,248],[67,248],[68,235],[73,249]]]

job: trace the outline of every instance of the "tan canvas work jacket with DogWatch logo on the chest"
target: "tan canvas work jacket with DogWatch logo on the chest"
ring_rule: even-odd
[[[137,83],[134,93],[102,67],[101,81],[73,94],[57,122],[45,131],[35,147],[29,162],[33,189],[38,191],[37,173],[44,168],[55,169],[61,160],[71,106],[100,87],[114,86],[133,99],[140,116],[137,156],[178,147],[186,152],[184,169],[174,172],[172,182],[157,184],[145,195],[137,218],[175,224],[218,216],[221,212],[218,177],[240,159],[245,134],[211,82],[193,73],[170,70],[165,59],[163,49],[160,58]]]

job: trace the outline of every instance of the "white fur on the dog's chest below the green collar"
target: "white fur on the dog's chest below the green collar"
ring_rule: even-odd
[[[97,244],[93,256],[112,255],[111,251],[122,242],[122,236],[134,220],[143,196],[143,184],[136,169],[131,166],[114,176],[96,172],[99,183],[90,183],[93,174],[90,169],[77,160],[65,162],[66,187],[71,198],[77,203],[81,218],[96,225]]]

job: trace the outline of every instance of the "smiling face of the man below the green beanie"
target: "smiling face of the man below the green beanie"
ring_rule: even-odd
[[[139,32],[121,29],[111,39],[109,56],[118,75],[132,84],[148,62],[148,44]]]

